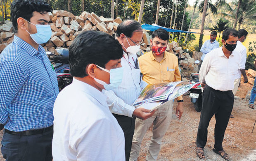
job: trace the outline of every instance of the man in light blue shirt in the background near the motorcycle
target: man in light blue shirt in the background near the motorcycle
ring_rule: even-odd
[[[202,61],[204,60],[204,57],[207,53],[209,53],[213,49],[218,48],[220,46],[219,42],[216,40],[216,37],[217,37],[217,32],[212,31],[210,35],[210,39],[206,40],[203,46],[201,47],[200,51],[203,53],[203,55],[201,56]]]

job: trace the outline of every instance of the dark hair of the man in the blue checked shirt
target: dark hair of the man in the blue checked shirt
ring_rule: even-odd
[[[45,11],[50,12],[52,8],[45,0],[14,0],[11,5],[11,20],[14,32],[18,30],[17,19],[22,17],[27,21],[33,17],[33,12],[37,11],[43,14]]]

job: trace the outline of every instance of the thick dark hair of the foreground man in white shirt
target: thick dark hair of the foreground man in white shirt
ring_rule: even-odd
[[[69,48],[69,67],[72,76],[85,77],[88,64],[105,68],[109,60],[121,59],[123,49],[119,42],[101,31],[85,31],[73,40]]]

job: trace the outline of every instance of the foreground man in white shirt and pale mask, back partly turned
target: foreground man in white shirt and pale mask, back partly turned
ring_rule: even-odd
[[[124,134],[102,89],[114,89],[123,76],[123,50],[99,31],[86,31],[69,48],[73,83],[57,96],[53,115],[54,161],[125,161]]]

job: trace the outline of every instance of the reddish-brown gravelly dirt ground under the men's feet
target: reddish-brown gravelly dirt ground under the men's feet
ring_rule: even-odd
[[[251,133],[256,119],[256,110],[248,108],[248,100],[245,96],[252,85],[241,83],[235,98],[235,105],[232,114],[235,118],[230,118],[223,148],[230,154],[231,161],[256,161],[256,129]],[[176,101],[175,101],[176,102]],[[176,107],[175,103],[174,107]],[[195,154],[197,127],[199,124],[200,113],[194,110],[189,96],[184,96],[184,113],[181,120],[175,117],[173,109],[173,120],[162,140],[162,147],[158,161],[202,161]],[[213,117],[208,128],[208,141],[204,148],[206,161],[224,161],[215,154],[214,144],[214,125]],[[0,132],[2,137],[2,131]],[[152,127],[147,131],[141,146],[138,161],[145,161],[149,140],[152,137]],[[251,155],[251,156],[249,156]],[[0,161],[5,159],[0,156]]]

